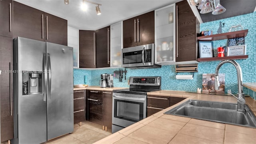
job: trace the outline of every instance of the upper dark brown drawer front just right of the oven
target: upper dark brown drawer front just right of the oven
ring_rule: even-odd
[[[147,106],[156,108],[168,108],[170,106],[170,97],[147,95]]]

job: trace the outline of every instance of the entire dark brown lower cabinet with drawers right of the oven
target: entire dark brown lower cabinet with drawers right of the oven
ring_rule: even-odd
[[[147,116],[151,116],[152,114],[164,110],[174,104],[177,104],[184,99],[185,98],[178,98],[172,96],[147,95]]]

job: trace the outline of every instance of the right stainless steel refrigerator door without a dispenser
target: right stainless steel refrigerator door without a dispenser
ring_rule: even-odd
[[[73,48],[46,42],[46,52],[47,140],[50,140],[74,130]]]

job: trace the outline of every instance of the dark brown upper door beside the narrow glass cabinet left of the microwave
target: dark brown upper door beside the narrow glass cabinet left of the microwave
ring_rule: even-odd
[[[96,68],[110,67],[110,26],[96,30]]]

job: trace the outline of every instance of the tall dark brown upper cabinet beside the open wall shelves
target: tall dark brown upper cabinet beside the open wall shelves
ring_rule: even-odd
[[[176,3],[176,62],[196,61],[198,58],[197,37],[200,23],[188,2]]]

